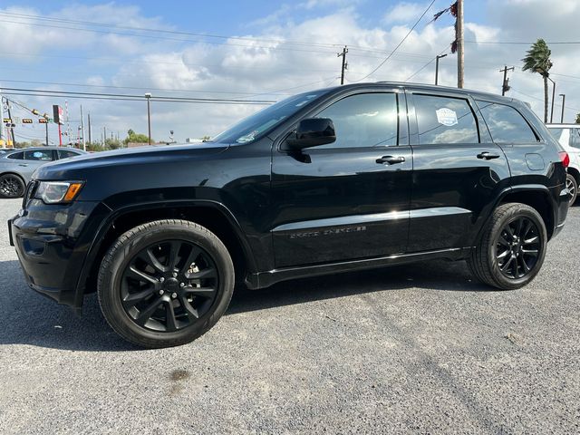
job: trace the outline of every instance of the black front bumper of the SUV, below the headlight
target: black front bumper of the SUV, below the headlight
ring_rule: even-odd
[[[28,285],[59,304],[82,306],[79,277],[96,228],[106,208],[98,202],[78,201],[45,205],[32,199],[8,221],[10,244]],[[103,215],[104,216],[104,215]]]

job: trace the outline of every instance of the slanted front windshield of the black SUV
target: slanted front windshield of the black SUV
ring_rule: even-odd
[[[268,131],[276,127],[280,122],[292,116],[309,102],[313,102],[328,90],[305,92],[286,98],[281,102],[266,107],[262,111],[247,117],[238,122],[232,128],[219,133],[212,138],[214,142],[223,143],[248,143],[263,137]]]

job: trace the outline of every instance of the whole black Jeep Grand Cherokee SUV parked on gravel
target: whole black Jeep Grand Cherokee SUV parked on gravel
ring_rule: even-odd
[[[49,163],[9,223],[34,290],[96,291],[122,337],[188,343],[236,282],[430,258],[530,282],[564,225],[567,155],[526,104],[379,82],[306,92],[203,145]]]

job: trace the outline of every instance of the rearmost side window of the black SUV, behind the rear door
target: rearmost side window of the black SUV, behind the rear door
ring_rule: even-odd
[[[479,102],[479,110],[488,123],[491,139],[496,143],[536,142],[536,134],[524,117],[513,107],[497,102]]]

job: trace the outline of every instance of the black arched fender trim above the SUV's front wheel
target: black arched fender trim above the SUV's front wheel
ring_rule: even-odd
[[[111,210],[111,214],[109,216],[107,216],[107,218],[103,219],[101,225],[99,226],[99,229],[97,230],[97,232],[95,233],[95,236],[92,239],[91,247],[89,247],[87,255],[85,256],[84,261],[82,263],[81,274],[79,275],[79,279],[77,280],[76,289],[75,289],[75,296],[74,296],[74,306],[75,307],[82,306],[82,299],[84,297],[84,291],[85,291],[85,283],[86,283],[86,280],[87,280],[89,273],[92,269],[94,261],[96,260],[97,253],[99,252],[99,249],[101,248],[102,241],[103,241],[105,235],[109,232],[113,222],[117,218],[120,218],[121,216],[126,215],[126,214],[131,213],[131,212],[134,212],[134,211],[140,211],[140,210],[145,211],[145,210],[148,210],[151,208],[172,208],[172,207],[215,208],[222,215],[224,215],[225,218],[227,218],[227,221],[229,222],[229,224],[233,228],[234,233],[236,234],[236,237],[237,237],[238,241],[240,242],[240,245],[241,245],[242,250],[244,252],[244,256],[246,258],[247,266],[249,269],[248,272],[256,271],[256,260],[255,260],[253,251],[247,242],[247,237],[244,234],[244,232],[242,231],[242,228],[240,227],[239,222],[237,221],[237,218],[233,215],[233,213],[224,204],[222,204],[218,201],[214,201],[211,199],[196,199],[196,200],[190,200],[190,199],[179,200],[178,199],[178,200],[172,200],[172,201],[167,201],[167,200],[165,200],[165,201],[150,201],[150,202],[131,204],[129,206],[123,206],[121,208],[117,208],[114,210],[111,207],[109,207],[106,204],[106,202],[102,202],[102,204]],[[80,310],[80,308],[79,308],[79,310]]]

